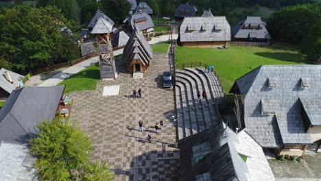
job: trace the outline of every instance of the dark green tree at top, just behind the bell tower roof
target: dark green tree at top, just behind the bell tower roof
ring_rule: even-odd
[[[106,15],[115,23],[122,23],[132,7],[127,0],[102,0],[100,3],[102,3]]]

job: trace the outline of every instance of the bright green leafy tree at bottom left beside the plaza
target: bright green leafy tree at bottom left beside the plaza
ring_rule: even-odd
[[[88,136],[75,125],[42,121],[38,136],[30,140],[31,153],[38,158],[35,167],[40,180],[112,180],[106,163],[91,163],[93,150]]]

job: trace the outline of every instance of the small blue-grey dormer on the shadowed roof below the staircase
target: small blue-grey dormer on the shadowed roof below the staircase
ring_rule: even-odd
[[[193,158],[192,165],[195,165],[200,160],[202,160],[205,156],[212,152],[211,145],[209,141],[204,143],[198,143],[198,145],[193,146]]]

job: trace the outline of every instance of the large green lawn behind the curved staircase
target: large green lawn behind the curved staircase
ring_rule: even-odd
[[[177,47],[176,64],[200,61],[213,65],[226,93],[237,78],[261,64],[305,64],[296,49],[285,45],[265,48],[231,46],[228,49]]]

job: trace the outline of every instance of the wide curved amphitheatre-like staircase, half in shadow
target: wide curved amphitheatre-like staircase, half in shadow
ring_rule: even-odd
[[[208,73],[202,67],[176,69],[175,81],[178,139],[221,123],[217,101],[224,99],[224,91],[213,72]],[[204,99],[203,90],[206,93]]]

